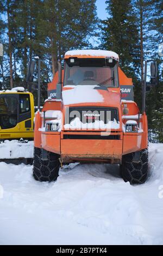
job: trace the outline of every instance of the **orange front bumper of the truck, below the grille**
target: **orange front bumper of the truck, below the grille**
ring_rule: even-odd
[[[102,160],[119,162],[122,158],[123,134],[119,132],[42,133],[42,147],[60,154],[64,162]]]

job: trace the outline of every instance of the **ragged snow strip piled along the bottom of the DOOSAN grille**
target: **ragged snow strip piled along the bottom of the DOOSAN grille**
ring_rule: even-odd
[[[105,124],[104,121],[102,121],[102,120],[100,120],[100,121],[95,120],[94,123],[82,123],[80,121],[79,117],[76,117],[76,118],[74,118],[74,120],[72,120],[70,122],[70,124],[65,124],[64,128],[65,129],[83,129],[83,130],[85,130],[85,129],[90,129],[90,130],[92,130],[92,129],[95,129],[95,130],[96,129],[97,130],[98,129],[107,129],[107,130],[110,130],[110,129],[120,129],[120,123],[119,122],[117,123],[116,120],[109,121],[107,124]]]

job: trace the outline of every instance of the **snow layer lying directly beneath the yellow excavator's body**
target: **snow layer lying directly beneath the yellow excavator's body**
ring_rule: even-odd
[[[33,158],[33,141],[20,143],[18,140],[5,140],[0,143],[0,159]]]

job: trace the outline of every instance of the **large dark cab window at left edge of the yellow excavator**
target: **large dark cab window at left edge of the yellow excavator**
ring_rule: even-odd
[[[17,124],[17,98],[0,98],[0,127],[10,129]]]

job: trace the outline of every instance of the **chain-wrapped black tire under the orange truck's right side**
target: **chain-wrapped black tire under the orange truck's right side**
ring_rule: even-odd
[[[122,157],[120,165],[121,177],[130,184],[142,184],[148,177],[148,149],[140,151],[139,162],[134,162],[134,154],[126,154]]]

